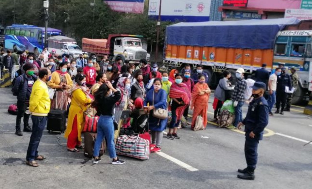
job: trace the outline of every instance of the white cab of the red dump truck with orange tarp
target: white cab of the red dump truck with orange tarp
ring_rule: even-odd
[[[147,59],[149,61],[150,59],[150,54],[142,48],[142,41],[139,38],[116,37],[113,49],[114,56],[124,57],[124,60],[139,61],[140,59]]]

